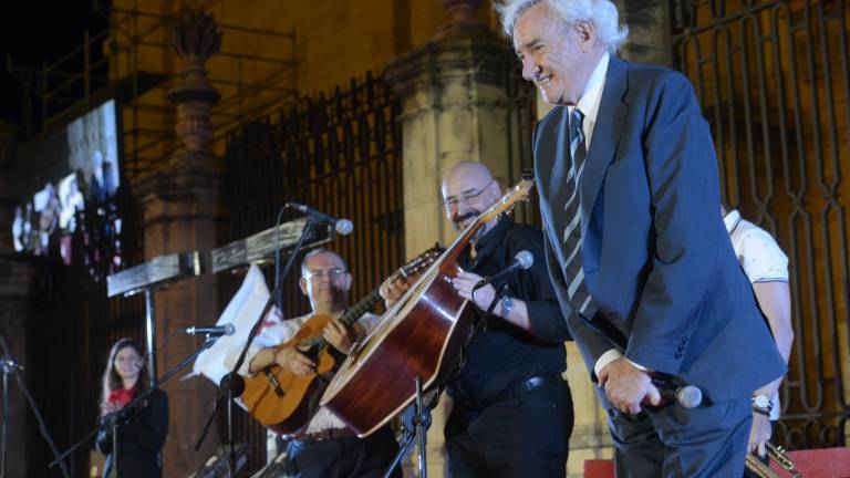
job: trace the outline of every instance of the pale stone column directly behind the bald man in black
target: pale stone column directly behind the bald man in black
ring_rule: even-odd
[[[501,186],[508,177],[508,45],[474,18],[480,0],[445,0],[450,19],[433,40],[386,66],[385,81],[402,104],[406,253],[456,237],[445,217],[440,180],[459,160],[487,164]],[[428,433],[428,475],[446,476],[443,428],[447,397]],[[415,456],[415,455],[414,455]],[[414,461],[415,463],[415,461]]]

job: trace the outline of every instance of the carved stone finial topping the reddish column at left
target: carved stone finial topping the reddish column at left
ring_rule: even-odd
[[[222,33],[210,13],[185,9],[174,28],[174,49],[184,62],[179,83],[168,92],[168,100],[177,105],[175,132],[184,148],[170,158],[172,169],[193,170],[209,168],[209,138],[212,136],[212,106],[220,95],[207,80],[204,67],[210,56],[221,49]],[[215,167],[212,167],[215,168]]]

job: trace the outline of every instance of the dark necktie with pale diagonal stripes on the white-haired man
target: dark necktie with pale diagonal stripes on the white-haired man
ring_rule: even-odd
[[[584,270],[581,267],[581,200],[579,198],[579,181],[584,170],[587,149],[584,131],[581,127],[584,114],[579,108],[570,113],[570,170],[567,176],[567,201],[564,217],[568,218],[563,229],[563,251],[567,254],[564,272],[567,277],[567,298],[570,305],[584,318],[592,319],[597,313],[590,292],[584,284]]]

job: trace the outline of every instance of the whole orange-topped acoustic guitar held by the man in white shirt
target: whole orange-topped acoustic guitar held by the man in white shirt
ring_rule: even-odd
[[[416,276],[431,266],[443,250],[435,246],[398,269],[402,278]],[[381,301],[380,287],[348,309],[340,321],[351,326]],[[271,365],[245,378],[241,404],[261,424],[278,434],[301,432],[319,409],[319,398],[333,377],[338,362],[344,357],[322,337],[330,315],[315,315],[304,322],[298,333],[280,347],[298,347],[317,364],[315,372],[299,376],[279,365]]]

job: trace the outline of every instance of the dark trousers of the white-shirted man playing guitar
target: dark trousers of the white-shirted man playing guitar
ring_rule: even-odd
[[[386,426],[365,438],[291,440],[288,471],[298,478],[380,478],[397,450],[398,443]],[[396,467],[393,477],[401,476]]]

